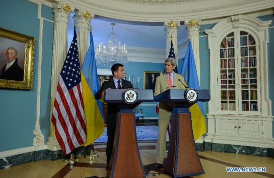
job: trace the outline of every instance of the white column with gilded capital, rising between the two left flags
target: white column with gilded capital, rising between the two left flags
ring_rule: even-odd
[[[90,14],[88,11],[79,10],[76,14],[77,16],[77,41],[79,50],[79,60],[80,66],[82,66],[84,59],[86,57],[88,47],[89,47],[89,24],[91,18],[94,18],[94,14]]]

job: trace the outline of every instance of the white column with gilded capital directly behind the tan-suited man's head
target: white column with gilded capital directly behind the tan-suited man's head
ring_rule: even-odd
[[[171,40],[171,34],[172,34],[172,43],[173,43],[173,48],[174,48],[174,54],[177,60],[177,65],[178,65],[178,42],[177,42],[177,37],[178,37],[178,31],[180,27],[180,21],[165,21],[164,22],[164,31],[165,31],[165,37],[166,37],[166,58],[169,55],[170,51],[170,40]]]

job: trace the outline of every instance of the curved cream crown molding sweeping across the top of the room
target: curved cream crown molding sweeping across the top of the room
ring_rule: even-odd
[[[52,1],[52,0],[47,0]],[[165,20],[187,19],[216,19],[227,17],[233,14],[247,14],[258,12],[263,9],[274,7],[273,0],[193,0],[185,2],[155,3],[133,3],[121,0],[59,0],[63,3],[88,10],[96,15],[105,17],[146,21],[163,22]],[[137,10],[138,9],[138,10]],[[141,9],[141,10],[139,10]]]

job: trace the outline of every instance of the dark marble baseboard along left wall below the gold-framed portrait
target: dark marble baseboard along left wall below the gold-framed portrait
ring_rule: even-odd
[[[90,146],[78,147],[74,151],[74,156],[86,155],[90,153]],[[51,151],[51,150],[39,150],[18,155],[13,155],[5,158],[0,158],[0,169],[9,168],[16,165],[21,165],[24,163],[39,161],[39,160],[60,160],[60,159],[70,159],[70,155],[64,156],[61,150]]]

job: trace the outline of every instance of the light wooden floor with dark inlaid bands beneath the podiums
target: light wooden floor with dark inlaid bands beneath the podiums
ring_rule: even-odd
[[[105,147],[106,145],[95,146],[99,158],[92,161],[78,156],[80,162],[70,166],[65,164],[64,160],[41,160],[2,169],[0,178],[104,178],[107,177]],[[171,178],[161,170],[152,170],[156,160],[155,148],[155,142],[139,143],[142,164],[146,169],[151,168],[147,178]],[[274,178],[274,158],[211,151],[200,152],[199,156],[205,174],[188,178]],[[266,168],[266,173],[227,173],[227,167]],[[153,176],[157,173],[160,174]],[[131,178],[131,175],[128,178]]]

